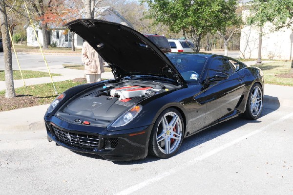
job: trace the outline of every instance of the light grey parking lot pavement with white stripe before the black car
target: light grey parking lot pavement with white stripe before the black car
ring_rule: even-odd
[[[293,194],[293,111],[265,105],[184,140],[169,159],[111,162],[47,142],[45,130],[0,134],[0,194]]]

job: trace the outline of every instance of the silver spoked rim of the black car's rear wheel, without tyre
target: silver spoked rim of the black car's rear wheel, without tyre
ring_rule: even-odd
[[[255,86],[251,91],[250,110],[253,116],[257,116],[262,109],[262,91],[261,88]]]

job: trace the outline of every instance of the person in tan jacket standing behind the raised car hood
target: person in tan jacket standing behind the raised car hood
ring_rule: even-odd
[[[93,83],[101,81],[101,74],[105,72],[105,61],[87,42],[83,44],[82,61],[84,63],[86,82]]]

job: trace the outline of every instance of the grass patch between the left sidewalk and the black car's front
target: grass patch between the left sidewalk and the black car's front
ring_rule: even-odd
[[[74,87],[84,83],[86,82],[73,82],[72,80],[68,80],[62,82],[55,82],[54,84],[58,93],[61,94],[63,91],[67,90],[70,87]],[[52,83],[19,87],[15,89],[15,92],[17,95],[31,95],[38,97],[38,105],[51,103],[57,96],[55,94]],[[5,90],[0,91],[0,96],[2,95],[5,95]]]

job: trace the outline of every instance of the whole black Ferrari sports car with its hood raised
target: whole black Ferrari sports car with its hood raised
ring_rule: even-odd
[[[164,54],[122,24],[66,24],[111,66],[115,79],[72,87],[45,113],[47,138],[107,160],[168,158],[183,138],[262,111],[262,70],[208,53]]]

